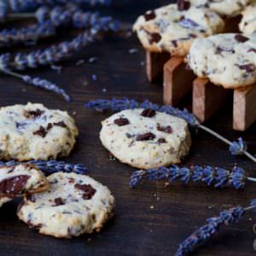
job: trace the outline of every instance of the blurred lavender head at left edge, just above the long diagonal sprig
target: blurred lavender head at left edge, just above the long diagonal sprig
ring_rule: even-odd
[[[0,32],[0,47],[35,43],[38,38],[48,38],[53,35],[55,35],[55,27],[49,21],[20,29],[4,29]]]

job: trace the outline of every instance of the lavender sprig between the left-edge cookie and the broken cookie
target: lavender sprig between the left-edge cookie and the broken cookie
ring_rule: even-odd
[[[73,165],[57,160],[30,160],[27,162],[16,162],[15,160],[10,160],[8,162],[0,161],[0,166],[16,166],[20,163],[29,163],[34,166],[38,166],[45,175],[50,175],[55,172],[75,172],[78,174],[86,174],[88,172],[87,168],[82,164]]]

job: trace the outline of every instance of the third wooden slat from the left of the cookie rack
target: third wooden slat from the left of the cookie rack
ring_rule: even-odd
[[[208,79],[195,79],[193,113],[201,122],[205,122],[218,108],[221,108],[231,92],[231,90],[212,84]]]

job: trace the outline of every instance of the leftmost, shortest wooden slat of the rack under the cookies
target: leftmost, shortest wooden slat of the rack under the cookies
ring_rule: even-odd
[[[169,53],[155,53],[146,51],[146,68],[147,76],[150,82],[158,79],[163,74],[163,68],[170,59]]]

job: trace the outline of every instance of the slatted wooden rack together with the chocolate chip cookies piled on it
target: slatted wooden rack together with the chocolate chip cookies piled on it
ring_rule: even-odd
[[[253,0],[178,0],[140,16],[134,30],[147,51],[148,78],[154,79],[165,65],[164,102],[177,104],[197,77],[193,110],[205,121],[217,110],[214,98],[220,106],[228,95],[223,89],[233,89],[233,127],[246,130],[256,119],[255,20]]]

